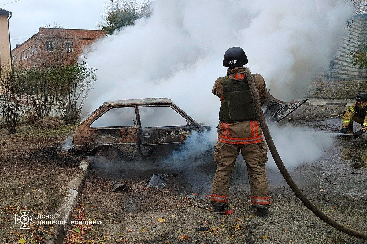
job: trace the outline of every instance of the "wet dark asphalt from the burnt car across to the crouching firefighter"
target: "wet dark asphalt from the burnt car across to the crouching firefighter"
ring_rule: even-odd
[[[334,138],[333,146],[325,151],[316,162],[305,162],[305,164],[291,170],[291,176],[300,187],[307,186],[323,188],[334,192],[351,192],[352,189],[348,189],[347,185],[343,184],[344,179],[340,178],[340,173],[343,172],[343,174],[345,173],[353,178],[367,173],[367,157],[364,142],[353,137],[339,136],[336,129],[337,127],[340,128],[340,120],[341,118],[321,121],[307,119],[301,121],[285,119],[281,121],[281,126],[287,124],[306,125],[311,129],[327,132],[327,136]],[[359,128],[360,125],[355,125],[355,130]],[[143,162],[122,162],[118,165],[112,163],[111,168],[106,168],[105,166],[100,167],[100,164],[94,164],[94,170],[98,176],[122,182],[136,179],[149,179],[152,174],[172,174],[174,176],[167,177],[168,188],[175,188],[177,191],[183,193],[195,192],[202,195],[211,192],[211,183],[216,169],[211,155],[209,153],[207,158],[201,159],[200,162],[195,162],[195,166],[190,166],[186,162],[183,167],[167,167],[167,164],[160,166],[159,161],[153,162],[146,160]],[[268,157],[271,157],[270,153]],[[179,165],[179,163],[176,165]],[[287,186],[278,169],[267,168],[266,173],[271,188]],[[249,190],[247,177],[246,164],[242,157],[239,156],[232,173],[231,191]],[[366,193],[366,191],[363,193]]]

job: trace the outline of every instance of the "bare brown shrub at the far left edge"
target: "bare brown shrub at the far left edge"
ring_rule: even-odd
[[[17,132],[22,99],[21,72],[18,72],[17,67],[10,65],[1,67],[0,91],[3,91],[6,97],[0,102],[5,127],[8,134],[13,134]]]

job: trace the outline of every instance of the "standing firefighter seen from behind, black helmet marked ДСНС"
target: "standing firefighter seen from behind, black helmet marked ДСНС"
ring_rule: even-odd
[[[223,60],[223,66],[228,67],[227,76],[219,77],[212,90],[213,94],[219,97],[221,108],[218,141],[214,146],[217,171],[212,183],[211,203],[214,212],[223,212],[228,206],[232,169],[241,152],[247,166],[252,208],[257,209],[260,217],[267,217],[270,207],[269,185],[265,172],[268,147],[262,139],[262,130],[246,79],[243,65],[247,63],[242,48],[228,49]],[[264,78],[259,74],[252,76],[263,103],[268,94]]]

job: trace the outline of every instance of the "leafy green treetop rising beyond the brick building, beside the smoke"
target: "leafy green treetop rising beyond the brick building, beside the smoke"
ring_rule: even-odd
[[[152,15],[150,4],[151,1],[145,1],[142,4],[136,3],[135,0],[117,1],[113,11],[110,6],[106,6],[106,13],[103,15],[104,23],[100,23],[99,28],[110,35],[116,29],[134,25],[136,19],[149,18]]]

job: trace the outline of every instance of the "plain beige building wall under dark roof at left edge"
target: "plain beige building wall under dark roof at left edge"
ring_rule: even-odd
[[[8,16],[0,15],[0,65],[10,64]]]

